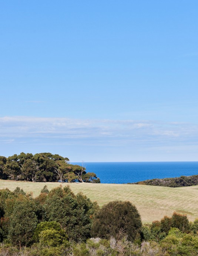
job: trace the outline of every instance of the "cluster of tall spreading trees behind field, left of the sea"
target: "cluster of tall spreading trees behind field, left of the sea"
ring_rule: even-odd
[[[85,170],[83,166],[70,164],[67,157],[51,153],[0,156],[0,178],[4,180],[100,183],[95,173]]]

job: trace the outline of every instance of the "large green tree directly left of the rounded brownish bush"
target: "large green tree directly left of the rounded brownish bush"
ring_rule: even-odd
[[[47,221],[60,223],[70,240],[80,242],[90,237],[95,204],[86,196],[75,196],[69,187],[54,188],[47,195],[44,208]]]

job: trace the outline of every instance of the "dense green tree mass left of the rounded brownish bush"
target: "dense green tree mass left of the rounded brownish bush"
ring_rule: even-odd
[[[90,237],[91,216],[97,208],[97,203],[81,193],[75,196],[69,187],[54,188],[35,199],[19,188],[0,190],[1,240],[20,247],[82,242]]]

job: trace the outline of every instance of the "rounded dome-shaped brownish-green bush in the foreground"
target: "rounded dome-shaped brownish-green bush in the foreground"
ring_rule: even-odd
[[[133,241],[141,226],[140,214],[134,205],[129,201],[112,201],[94,216],[91,234],[105,239],[127,236],[128,240]]]

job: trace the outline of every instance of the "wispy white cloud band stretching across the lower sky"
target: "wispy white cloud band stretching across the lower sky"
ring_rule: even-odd
[[[149,120],[41,118],[4,116],[0,118],[1,143],[42,139],[95,140],[97,143],[139,143],[198,141],[198,125]]]

